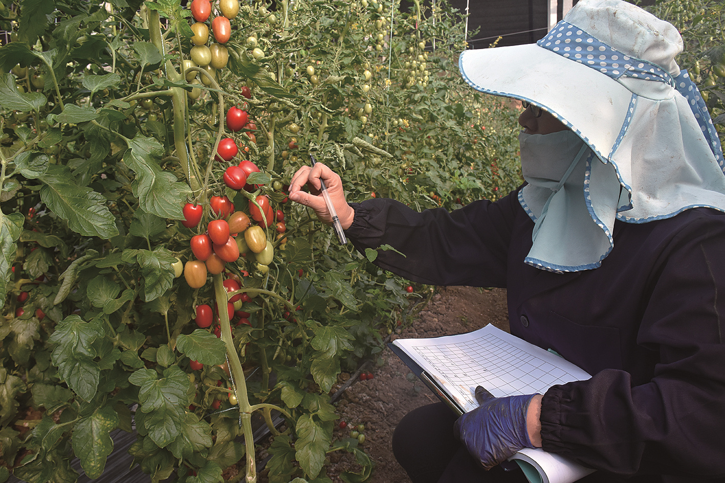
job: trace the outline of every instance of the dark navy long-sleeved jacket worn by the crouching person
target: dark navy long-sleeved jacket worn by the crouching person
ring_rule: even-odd
[[[376,264],[416,282],[505,287],[514,335],[593,374],[544,395],[544,450],[604,474],[676,475],[631,481],[725,481],[725,214],[616,222],[600,268],[555,274],[523,263],[534,223],[516,195],[450,213],[350,203],[347,235],[405,253]]]

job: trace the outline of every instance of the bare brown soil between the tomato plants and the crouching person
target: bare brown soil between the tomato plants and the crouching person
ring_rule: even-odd
[[[508,331],[505,290],[441,287],[418,317],[393,337],[460,334],[489,323]],[[373,379],[357,380],[339,398],[339,413],[349,426],[336,429],[335,437],[347,437],[350,426],[364,424],[363,447],[375,463],[368,483],[409,483],[392,453],[393,431],[405,413],[438,402],[438,398],[389,349],[384,350],[382,359],[384,364],[370,369]],[[336,483],[341,482],[339,473],[355,465],[352,458],[340,452],[331,455],[331,463],[328,476]]]

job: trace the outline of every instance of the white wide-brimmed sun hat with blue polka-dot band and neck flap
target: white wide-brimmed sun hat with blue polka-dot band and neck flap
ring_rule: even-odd
[[[558,243],[572,233],[552,233],[530,264],[557,272],[600,266],[613,247],[615,218],[643,223],[700,206],[725,211],[720,140],[697,86],[676,63],[681,51],[676,28],[644,9],[581,0],[537,43],[460,55],[460,72],[473,88],[540,106],[593,151],[580,186],[600,233],[596,248],[572,258]],[[596,159],[600,166],[592,165]],[[605,180],[606,199],[592,198],[595,177]],[[529,190],[534,205],[551,195]],[[536,209],[527,212],[536,220]]]

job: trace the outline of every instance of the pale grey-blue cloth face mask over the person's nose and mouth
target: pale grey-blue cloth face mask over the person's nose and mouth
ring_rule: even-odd
[[[530,185],[551,190],[558,190],[558,185],[566,181],[567,172],[571,172],[573,165],[586,151],[584,141],[571,130],[550,134],[526,134],[521,131],[518,143],[523,179]]]

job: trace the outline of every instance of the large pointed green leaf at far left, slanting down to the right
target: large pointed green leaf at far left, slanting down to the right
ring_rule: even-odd
[[[66,167],[49,166],[41,181],[41,200],[68,222],[68,227],[84,236],[109,239],[118,235],[116,219],[101,193],[78,186]]]

